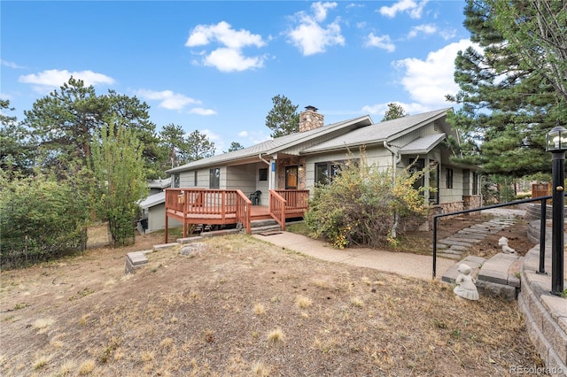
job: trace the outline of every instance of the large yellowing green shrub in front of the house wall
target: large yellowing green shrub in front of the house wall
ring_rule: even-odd
[[[426,213],[423,196],[413,187],[422,174],[398,171],[394,176],[392,169],[368,166],[364,156],[360,162],[349,158],[330,184],[315,187],[306,224],[340,249],[395,242]]]

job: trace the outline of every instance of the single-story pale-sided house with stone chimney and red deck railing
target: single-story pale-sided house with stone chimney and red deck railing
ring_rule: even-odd
[[[285,216],[290,216],[289,211],[298,214],[307,209],[307,198],[315,184],[331,180],[349,150],[356,158],[361,147],[366,150],[369,165],[378,168],[395,166],[398,170],[413,164],[421,169],[434,165],[418,184],[425,188],[424,200],[438,212],[478,207],[476,167],[452,163],[450,150],[444,144],[449,135],[459,140],[447,123],[447,112],[451,111],[440,109],[381,123],[365,115],[324,126],[323,115],[307,106],[299,114],[299,133],[170,169],[167,173],[172,175],[172,188],[166,190],[171,196],[169,201],[166,199],[166,222],[168,217],[187,221],[188,216],[197,217],[198,213],[221,215],[220,210],[209,213],[196,207],[207,206],[206,202],[212,200],[220,205],[224,200],[222,206],[229,203],[230,213],[224,213],[216,224],[241,223],[237,212],[250,213],[256,206],[247,212],[238,208],[250,205],[247,198],[257,191],[261,192],[258,204],[267,208],[272,218],[280,211],[272,208],[281,205],[276,204],[278,201],[285,202]],[[221,191],[226,191],[227,196],[204,199]],[[206,217],[199,220],[205,221]],[[278,222],[284,227],[284,218],[283,223],[282,219]]]

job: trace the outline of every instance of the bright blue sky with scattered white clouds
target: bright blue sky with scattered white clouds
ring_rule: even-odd
[[[73,75],[151,106],[151,120],[205,133],[217,153],[268,139],[271,98],[325,124],[388,103],[450,107],[470,45],[462,1],[0,3],[0,97],[23,119]]]

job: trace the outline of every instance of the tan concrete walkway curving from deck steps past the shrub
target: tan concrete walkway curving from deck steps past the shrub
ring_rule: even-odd
[[[374,268],[387,273],[399,273],[402,276],[423,280],[431,280],[432,278],[433,258],[427,255],[368,248],[338,250],[331,248],[324,242],[290,232],[273,232],[253,236],[276,246],[329,262]],[[437,258],[437,276],[442,276],[453,265],[454,260],[452,259]]]

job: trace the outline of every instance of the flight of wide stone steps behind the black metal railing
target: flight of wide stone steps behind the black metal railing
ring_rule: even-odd
[[[481,242],[488,235],[497,234],[501,230],[516,223],[508,217],[494,218],[482,224],[464,228],[450,237],[437,242],[438,257],[459,260],[473,244]],[[432,246],[431,246],[432,247]]]

